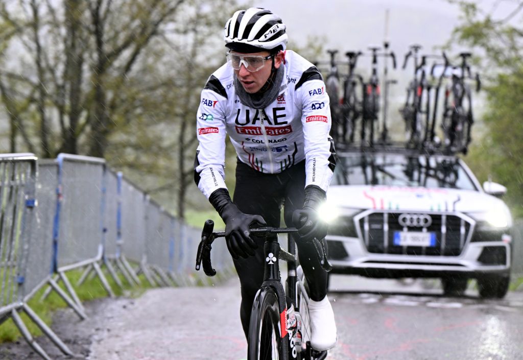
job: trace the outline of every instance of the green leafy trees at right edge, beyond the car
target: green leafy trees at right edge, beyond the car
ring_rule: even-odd
[[[471,1],[451,1],[461,9],[461,24],[451,44],[470,47],[480,55],[487,106],[487,131],[475,139],[467,162],[484,181],[507,186],[505,199],[516,217],[523,216],[523,2],[508,13],[484,9]],[[477,125],[476,125],[477,126]]]

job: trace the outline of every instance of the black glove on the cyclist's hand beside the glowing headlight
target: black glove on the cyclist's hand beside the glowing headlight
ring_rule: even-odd
[[[303,209],[294,210],[292,222],[298,229],[298,234],[305,240],[314,238],[322,240],[327,235],[328,224],[320,219],[318,207],[325,202],[324,190],[316,185],[305,187],[305,200]]]

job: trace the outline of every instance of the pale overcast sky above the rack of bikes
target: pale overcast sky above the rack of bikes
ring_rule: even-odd
[[[476,0],[496,14],[507,13],[514,2]],[[511,4],[510,4],[511,3]],[[287,25],[290,39],[304,44],[309,36],[325,37],[325,49],[365,50],[369,44],[382,45],[385,36],[385,9],[389,9],[390,47],[400,62],[412,43],[433,52],[444,44],[459,24],[458,7],[446,0],[255,0],[255,6],[278,14]]]

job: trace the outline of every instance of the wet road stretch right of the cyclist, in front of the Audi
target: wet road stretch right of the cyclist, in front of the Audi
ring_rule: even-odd
[[[339,343],[329,359],[523,359],[523,293],[484,301],[473,289],[442,297],[434,281],[336,280]]]

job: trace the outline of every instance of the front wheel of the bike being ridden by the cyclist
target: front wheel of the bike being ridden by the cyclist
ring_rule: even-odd
[[[281,351],[278,297],[273,289],[263,287],[253,303],[247,340],[247,359],[277,360],[281,358]]]

